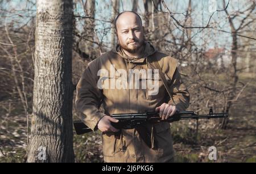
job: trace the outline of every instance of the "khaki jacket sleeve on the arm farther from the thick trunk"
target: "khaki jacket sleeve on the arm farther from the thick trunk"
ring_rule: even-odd
[[[185,111],[185,109],[187,109],[189,106],[189,92],[187,90],[187,87],[181,80],[180,73],[177,67],[168,86],[171,88],[172,97],[175,101],[177,111]],[[174,105],[172,99],[168,101],[168,104]]]

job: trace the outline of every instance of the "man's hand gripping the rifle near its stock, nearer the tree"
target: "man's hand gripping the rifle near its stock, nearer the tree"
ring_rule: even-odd
[[[112,125],[111,122],[118,122],[119,120],[112,118],[110,116],[104,116],[101,118],[101,120],[98,122],[98,129],[100,131],[105,132],[105,131],[114,131],[117,132],[119,131],[118,129],[115,129]]]

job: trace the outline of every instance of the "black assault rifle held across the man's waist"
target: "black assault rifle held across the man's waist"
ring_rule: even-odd
[[[121,113],[113,114],[113,118],[119,120],[118,122],[112,122],[114,128],[117,129],[133,129],[136,126],[143,124],[144,122],[174,122],[179,120],[198,120],[203,118],[225,118],[228,117],[227,113],[213,113],[213,109],[210,108],[209,114],[196,114],[193,111],[176,112],[173,116],[167,120],[161,120],[159,113],[156,112],[144,112],[144,113]],[[81,135],[93,131],[88,128],[82,121],[77,120],[73,122],[76,134]]]

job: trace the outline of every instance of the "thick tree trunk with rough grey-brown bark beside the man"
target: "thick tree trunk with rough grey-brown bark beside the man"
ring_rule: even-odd
[[[73,1],[36,4],[35,77],[27,162],[74,162]]]

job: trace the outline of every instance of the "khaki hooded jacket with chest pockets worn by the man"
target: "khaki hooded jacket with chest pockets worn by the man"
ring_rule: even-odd
[[[127,84],[131,70],[154,69],[148,63],[148,56],[155,56],[167,79],[168,86],[173,92],[173,98],[179,111],[184,111],[189,105],[189,93],[182,82],[177,70],[177,60],[167,57],[166,54],[156,51],[150,43],[144,43],[144,55],[142,58],[129,58],[121,50],[120,46],[89,63],[77,84],[76,108],[81,114],[81,120],[96,130],[98,121],[105,115],[114,113],[138,113],[155,111],[162,103],[173,104],[164,88],[162,80],[152,75],[139,75],[139,88],[111,87],[111,83]],[[110,66],[112,65],[112,66]],[[107,73],[113,70],[123,73]],[[105,70],[100,71],[98,70]],[[119,80],[119,81],[118,81]],[[122,83],[125,81],[125,83]],[[158,83],[159,91],[156,95],[150,95],[150,88],[142,88],[142,82]],[[113,83],[114,84],[114,83]],[[100,87],[99,87],[100,86]],[[110,86],[110,87],[109,87]],[[103,104],[104,113],[99,111]],[[146,145],[136,129],[122,129],[120,137],[114,133],[102,134],[102,146],[105,162],[168,162],[174,157],[170,124],[160,122],[148,125],[148,129],[154,126],[154,141],[157,147]]]

